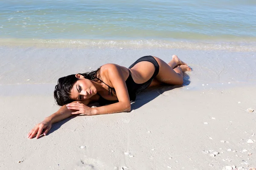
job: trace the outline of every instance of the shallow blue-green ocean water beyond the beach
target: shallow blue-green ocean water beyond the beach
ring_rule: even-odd
[[[0,0],[2,45],[254,51],[255,42],[255,0]]]

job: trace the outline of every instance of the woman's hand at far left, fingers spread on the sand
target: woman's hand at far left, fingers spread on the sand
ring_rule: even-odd
[[[35,134],[37,134],[36,139],[38,139],[43,130],[44,130],[44,136],[46,136],[47,132],[49,132],[51,127],[52,127],[51,120],[49,118],[45,118],[43,122],[35,125],[35,127],[28,133],[28,138],[32,139],[32,137],[35,136]]]

